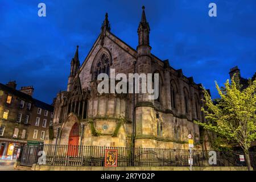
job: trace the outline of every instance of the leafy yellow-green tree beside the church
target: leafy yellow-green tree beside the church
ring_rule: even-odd
[[[224,85],[220,88],[216,82],[220,94],[216,103],[204,89],[204,107],[201,110],[207,122],[194,122],[230,142],[240,144],[247,167],[252,170],[249,148],[256,139],[256,80],[249,80],[249,86],[243,90],[236,77],[232,78],[231,83],[227,80]]]

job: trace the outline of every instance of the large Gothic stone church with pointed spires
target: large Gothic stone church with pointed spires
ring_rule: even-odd
[[[159,73],[159,97],[149,100],[148,94],[135,94],[135,147],[188,148],[191,134],[201,148],[199,126],[204,122],[201,112],[201,84],[174,69],[168,60],[151,53],[150,26],[144,7],[138,27],[138,46],[134,49],[110,31],[108,14],[101,32],[80,65],[79,47],[71,60],[67,91],[57,94],[53,127],[47,134],[50,144],[89,146],[130,146],[133,121],[133,94],[97,92],[97,76],[115,74]],[[154,81],[154,80],[153,80]],[[57,140],[57,141],[56,141]]]

